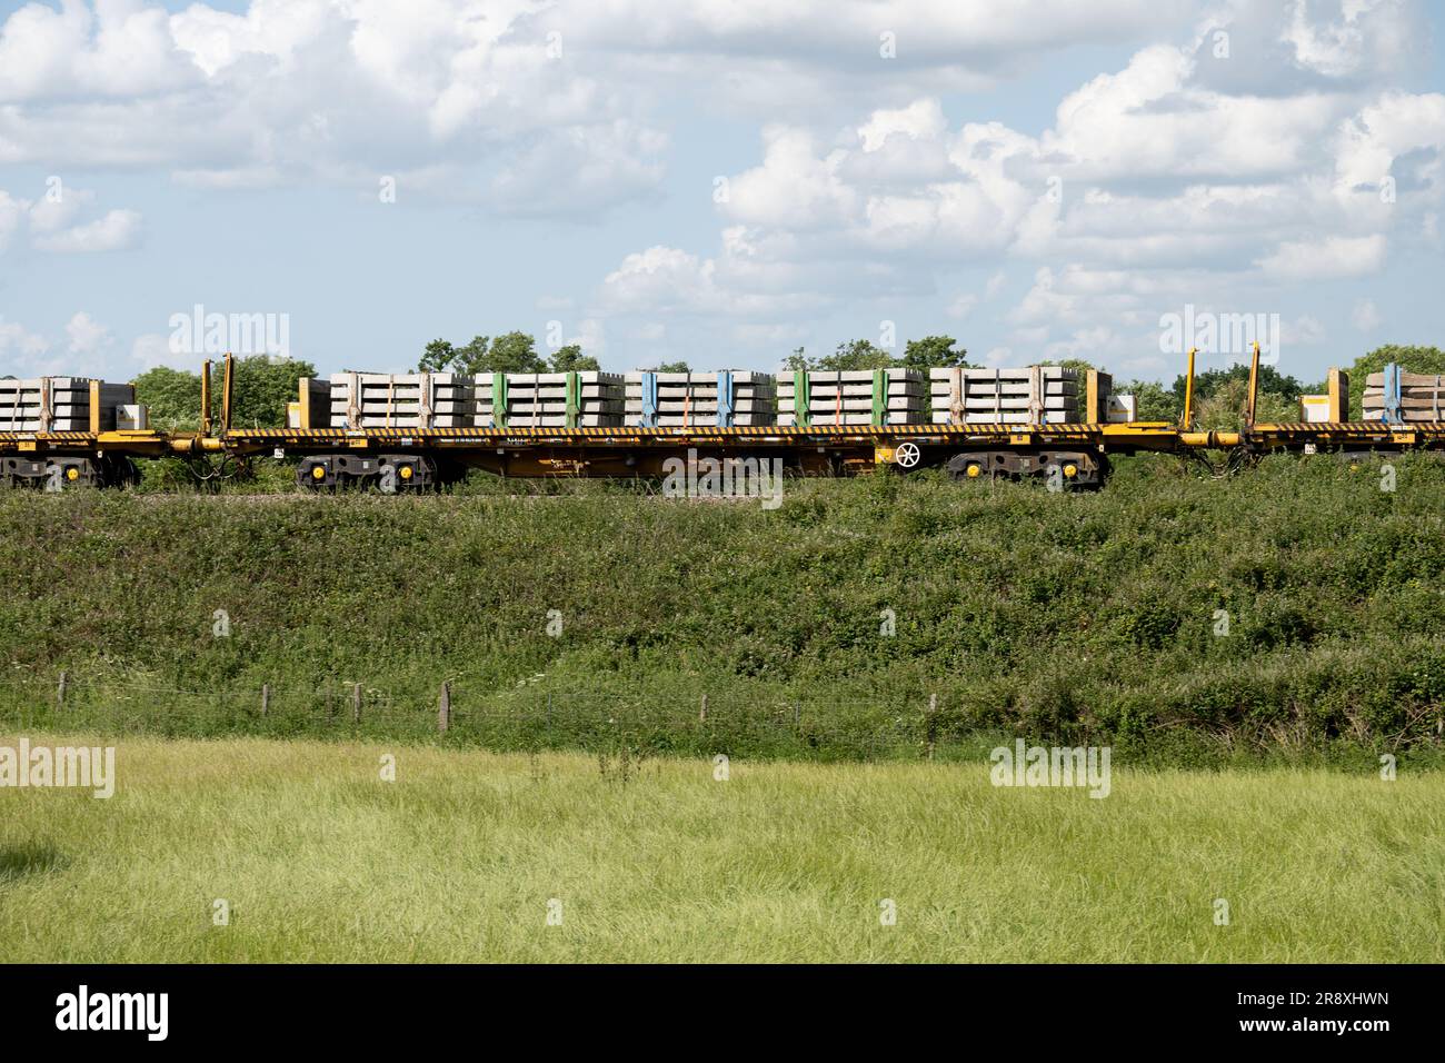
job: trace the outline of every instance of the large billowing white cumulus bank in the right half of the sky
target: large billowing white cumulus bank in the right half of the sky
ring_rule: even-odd
[[[1240,12],[1241,38],[1264,29],[1315,55],[1299,35],[1324,32],[1318,20]],[[1397,14],[1371,7],[1360,19],[1379,30]],[[1014,330],[1046,323],[1097,341],[1108,327],[1123,344],[1147,334],[1139,330],[1160,307],[1273,312],[1279,285],[1373,273],[1393,239],[1431,239],[1445,198],[1445,95],[1381,90],[1370,78],[1387,69],[1374,59],[1327,90],[1321,78],[1337,75],[1318,55],[1303,81],[1241,91],[1218,71],[1201,75],[1209,40],[1142,48],[1123,69],[1068,93],[1038,136],[998,121],[949,126],[933,97],[873,108],[832,133],[772,124],[760,165],[733,176],[720,204],[725,231],[741,233],[749,253],[724,246],[717,259],[692,256],[691,298],[669,283],[649,304],[633,283],[626,304],[737,312],[767,278],[770,309],[789,292],[808,295],[802,305],[841,305],[863,294],[840,276],[850,265],[874,296],[925,295],[961,259],[1013,257],[1051,263],[1007,314]],[[1392,165],[1409,169],[1412,195],[1384,205],[1355,188]],[[1055,276],[1068,282],[1055,288]],[[607,286],[620,282],[613,275]],[[1001,286],[1000,270],[983,298]],[[1269,294],[1251,292],[1261,286]],[[977,294],[957,292],[945,312],[964,320],[978,305]]]

